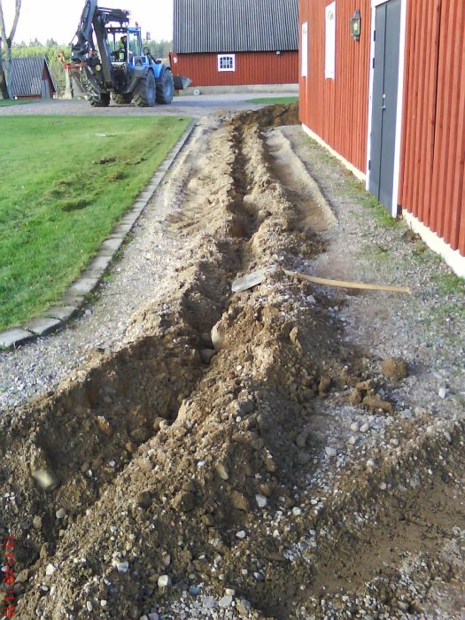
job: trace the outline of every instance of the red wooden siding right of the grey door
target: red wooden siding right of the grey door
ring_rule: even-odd
[[[407,4],[399,204],[465,255],[465,6]]]

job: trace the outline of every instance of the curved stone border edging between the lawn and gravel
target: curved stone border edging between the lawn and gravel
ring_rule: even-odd
[[[128,232],[133,228],[149,204],[155,190],[159,187],[167,171],[172,167],[174,159],[182,150],[196,125],[196,120],[190,122],[190,126],[178,142],[174,144],[167,157],[163,159],[155,174],[151,177],[149,184],[138,195],[132,208],[123,215],[119,224],[112,229],[111,235],[101,244],[100,250],[91,260],[89,266],[71,284],[61,301],[54,306],[50,306],[40,316],[24,322],[22,326],[0,332],[0,349],[14,349],[19,345],[35,340],[35,338],[46,336],[51,331],[63,326],[78,313],[81,307],[84,306],[86,295],[94,291],[98,283],[100,283],[114,255],[118,252]]]

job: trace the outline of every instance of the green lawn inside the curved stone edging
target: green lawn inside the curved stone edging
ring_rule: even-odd
[[[63,295],[189,122],[0,117],[0,329]]]

